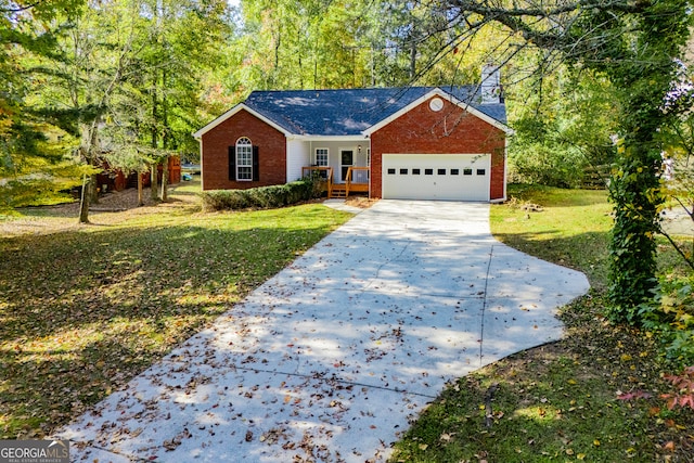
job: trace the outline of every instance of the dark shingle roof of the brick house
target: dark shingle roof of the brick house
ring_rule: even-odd
[[[254,91],[244,104],[286,131],[309,136],[358,136],[437,87]],[[506,107],[480,104],[477,87],[439,87],[506,124]]]

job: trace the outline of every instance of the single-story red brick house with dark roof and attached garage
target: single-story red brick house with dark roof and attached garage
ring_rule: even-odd
[[[255,91],[194,133],[203,190],[313,169],[335,195],[347,185],[371,197],[504,201],[513,131],[500,89],[487,66],[479,86]]]

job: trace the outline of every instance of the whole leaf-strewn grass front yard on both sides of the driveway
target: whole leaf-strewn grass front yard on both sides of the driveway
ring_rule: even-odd
[[[93,213],[90,226],[76,224],[74,206],[0,220],[0,438],[41,438],[67,423],[349,218],[318,204],[201,214],[194,191]],[[491,207],[496,236],[586,272],[594,290],[564,309],[564,340],[451,384],[391,460],[694,461],[693,411],[659,397],[674,364],[655,337],[602,317],[605,193],[512,195]],[[665,242],[660,252],[664,272],[683,271]]]

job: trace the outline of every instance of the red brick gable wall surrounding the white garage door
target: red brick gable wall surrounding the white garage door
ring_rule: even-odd
[[[412,108],[371,134],[371,196],[382,196],[382,155],[491,153],[490,198],[503,197],[505,133],[445,101],[434,112],[429,102]]]

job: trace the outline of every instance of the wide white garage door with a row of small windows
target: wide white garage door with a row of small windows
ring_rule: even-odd
[[[489,201],[488,154],[384,154],[383,197]]]

